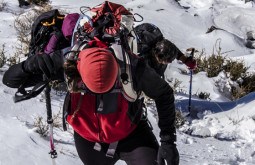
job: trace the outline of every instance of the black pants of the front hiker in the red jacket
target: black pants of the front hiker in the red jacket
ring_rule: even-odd
[[[90,142],[74,133],[75,146],[84,165],[114,165],[119,159],[127,165],[157,165],[158,142],[146,121],[125,139],[119,141],[114,158],[106,156],[109,144],[101,143],[102,150],[94,149]]]

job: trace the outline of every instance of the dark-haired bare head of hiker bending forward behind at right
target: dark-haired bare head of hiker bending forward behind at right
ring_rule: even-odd
[[[159,63],[171,63],[177,57],[176,46],[164,38],[152,48],[152,55],[155,56]]]

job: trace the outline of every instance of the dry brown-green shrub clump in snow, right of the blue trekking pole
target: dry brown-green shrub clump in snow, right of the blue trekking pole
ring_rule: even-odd
[[[216,41],[215,51],[209,57],[205,56],[204,50],[201,51],[196,58],[197,68],[194,73],[205,71],[208,77],[216,77],[223,71],[227,75],[227,82],[230,82],[229,85],[231,86],[229,87],[229,97],[236,100],[255,91],[255,85],[253,85],[255,75],[246,73],[249,67],[245,66],[243,61],[227,58],[227,55],[224,55],[227,52],[221,52],[220,41],[220,39]],[[207,93],[198,94],[199,98],[208,99],[209,96],[210,94]]]

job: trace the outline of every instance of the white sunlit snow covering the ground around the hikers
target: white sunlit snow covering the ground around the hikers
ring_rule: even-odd
[[[79,12],[80,6],[90,6],[102,0],[86,1],[53,0],[55,8],[69,12]],[[255,70],[255,49],[245,47],[247,32],[255,33],[254,2],[244,0],[123,0],[126,8],[133,9],[144,17],[143,22],[157,25],[164,36],[174,42],[183,52],[195,47],[205,50],[209,56],[215,50],[215,43],[221,40],[222,52],[228,52],[228,58],[243,60]],[[14,19],[16,13],[29,11],[19,8],[18,1],[7,1],[7,7],[0,12],[0,46],[6,45],[6,55],[12,56],[17,44]],[[139,24],[139,23],[137,23]],[[206,34],[211,26],[224,30],[214,30]],[[232,51],[233,50],[233,51]],[[7,67],[0,68],[0,79]],[[186,74],[183,74],[186,72]],[[167,68],[166,79],[182,83],[176,94],[176,109],[188,112],[189,71],[185,65],[174,61]],[[215,85],[218,81],[218,87]],[[230,81],[226,75],[208,78],[205,72],[193,75],[192,94],[210,93],[210,100],[201,100],[192,96],[191,115],[185,125],[177,130],[177,148],[181,165],[253,165],[255,164],[255,93],[230,101],[224,93]],[[220,90],[221,89],[221,92]],[[223,90],[224,89],[224,90]],[[180,93],[182,91],[182,93]],[[48,154],[49,137],[43,137],[33,126],[38,117],[46,119],[45,98],[40,94],[34,99],[13,103],[16,89],[7,88],[0,83],[0,165],[51,164]],[[52,109],[54,114],[61,111],[64,96],[52,91]],[[61,116],[61,115],[60,115]],[[158,137],[155,105],[148,108],[148,117]],[[61,120],[57,119],[56,121]],[[61,121],[60,121],[61,122]],[[74,147],[72,131],[64,132],[62,127],[54,128],[55,147],[58,152],[56,164],[78,165],[79,160]],[[21,163],[23,162],[23,163]],[[119,161],[117,165],[124,165]]]

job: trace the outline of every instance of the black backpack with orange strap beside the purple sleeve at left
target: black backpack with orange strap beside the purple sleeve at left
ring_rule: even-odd
[[[32,25],[28,56],[43,52],[52,35],[55,35],[57,38],[63,37],[61,27],[64,17],[64,15],[60,15],[59,11],[55,9],[45,12],[36,18]],[[62,45],[66,45],[66,43],[59,43],[59,47]]]

